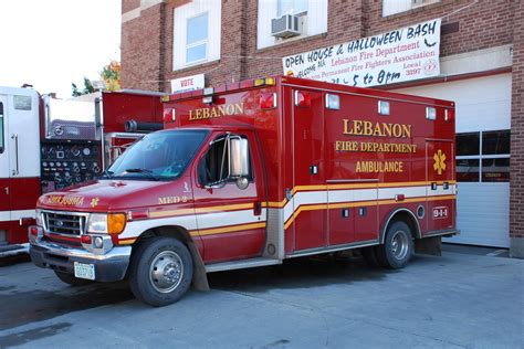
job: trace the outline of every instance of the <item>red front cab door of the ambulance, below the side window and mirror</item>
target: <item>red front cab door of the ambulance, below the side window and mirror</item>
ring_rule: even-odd
[[[232,142],[228,140],[230,138]],[[230,151],[247,147],[248,173],[228,178]],[[265,190],[254,133],[214,133],[196,162],[193,182],[198,233],[206,264],[262,255],[265,243]],[[242,168],[245,168],[242,166]]]

